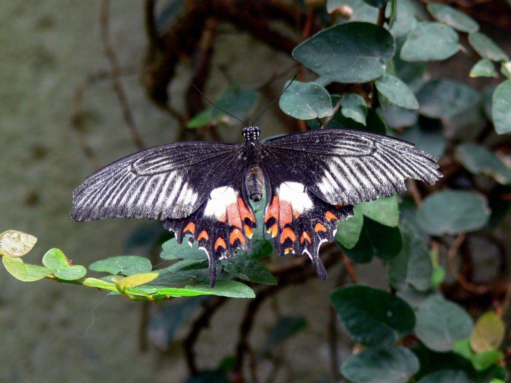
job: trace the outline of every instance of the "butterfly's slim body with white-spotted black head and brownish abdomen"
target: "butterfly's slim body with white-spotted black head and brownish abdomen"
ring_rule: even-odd
[[[252,201],[261,201],[263,198],[264,176],[261,170],[261,141],[258,127],[249,126],[243,129],[245,138],[245,154],[247,166],[245,168],[245,185],[248,197]]]

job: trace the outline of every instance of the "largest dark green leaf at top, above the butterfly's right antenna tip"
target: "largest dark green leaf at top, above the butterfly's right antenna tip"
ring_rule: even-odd
[[[333,81],[360,83],[383,75],[385,61],[394,49],[394,39],[386,29],[367,22],[347,22],[299,44],[293,57]]]

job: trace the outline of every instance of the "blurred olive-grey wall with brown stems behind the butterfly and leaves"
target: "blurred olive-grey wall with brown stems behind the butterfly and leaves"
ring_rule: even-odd
[[[0,231],[16,229],[38,238],[25,259],[37,263],[52,247],[81,265],[114,255],[147,255],[140,236],[159,232],[158,225],[123,219],[76,223],[68,215],[74,188],[99,166],[141,148],[197,138],[241,142],[241,127],[230,122],[215,131],[184,126],[206,107],[190,88],[192,82],[214,99],[235,82],[252,87],[260,109],[294,75],[289,52],[302,38],[303,28],[293,26],[307,22],[303,3],[269,2],[273,13],[266,16],[276,35],[267,32],[264,18],[248,23],[244,17],[250,15],[233,11],[176,35],[173,52],[157,46],[154,33],[168,32],[181,3],[1,2]],[[508,4],[458,0],[454,6],[511,52]],[[169,60],[176,61],[170,73]],[[431,65],[429,72],[467,80],[472,64],[458,53]],[[470,82],[479,90],[487,85]],[[263,136],[270,136],[294,131],[296,124],[275,105],[258,125]],[[509,217],[495,231],[507,261],[508,233]],[[475,246],[484,250],[475,262],[475,279],[484,280],[499,267],[499,249],[483,240]],[[387,285],[384,266],[376,259],[357,271],[361,283]],[[330,273],[335,275],[336,268]],[[255,347],[267,342],[278,318],[305,319],[305,330],[279,349],[277,381],[328,381],[331,312],[326,302],[335,285],[334,278],[313,278],[306,287],[283,289],[259,310],[251,335]],[[195,346],[200,369],[214,369],[233,354],[247,303],[229,300],[200,333]],[[159,305],[165,308],[158,315],[170,315],[172,304]],[[22,283],[0,268],[0,382],[183,381],[188,371],[181,341],[191,321],[169,338],[169,327],[156,322],[156,313],[154,305],[81,286]],[[341,357],[351,353],[342,331],[339,347]],[[272,365],[265,363],[271,373]]]

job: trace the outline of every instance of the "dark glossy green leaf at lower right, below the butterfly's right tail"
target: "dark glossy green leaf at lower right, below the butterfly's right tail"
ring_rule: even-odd
[[[412,308],[384,290],[351,285],[334,290],[330,299],[352,339],[366,346],[393,341],[415,325]]]

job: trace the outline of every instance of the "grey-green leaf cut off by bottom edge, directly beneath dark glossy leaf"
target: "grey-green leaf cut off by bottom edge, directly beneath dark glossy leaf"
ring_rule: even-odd
[[[368,348],[347,358],[342,375],[355,383],[405,383],[419,371],[419,360],[405,347]]]

